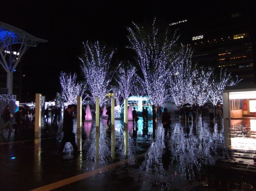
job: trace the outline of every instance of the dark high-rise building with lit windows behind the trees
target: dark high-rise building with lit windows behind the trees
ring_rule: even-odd
[[[193,63],[227,69],[243,79],[240,85],[256,83],[255,13],[187,23],[177,27],[181,36],[186,36],[183,43],[193,49]]]

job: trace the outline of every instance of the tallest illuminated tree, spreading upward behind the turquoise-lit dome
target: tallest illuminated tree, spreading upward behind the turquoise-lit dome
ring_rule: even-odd
[[[166,91],[167,76],[169,75],[169,64],[175,56],[172,49],[177,38],[174,35],[169,39],[168,30],[164,35],[155,27],[146,29],[133,23],[134,27],[128,28],[130,48],[137,53],[137,62],[144,77],[144,85],[151,104],[160,106],[163,104],[168,92]]]

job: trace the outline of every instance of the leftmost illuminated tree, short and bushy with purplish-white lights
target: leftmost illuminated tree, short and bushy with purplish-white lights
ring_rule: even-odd
[[[82,96],[82,104],[85,103],[85,85],[82,82],[76,82],[76,74],[67,74],[61,72],[59,77],[61,84],[61,96],[67,105],[77,104],[77,96]]]

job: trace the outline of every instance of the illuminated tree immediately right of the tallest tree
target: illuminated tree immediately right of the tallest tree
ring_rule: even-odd
[[[197,95],[195,78],[198,75],[196,65],[191,62],[191,49],[182,46],[178,55],[177,61],[172,64],[168,83],[170,95],[177,106],[194,102],[194,95]]]

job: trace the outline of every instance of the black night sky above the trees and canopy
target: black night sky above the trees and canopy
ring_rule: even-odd
[[[25,70],[25,101],[34,93],[52,100],[60,91],[60,71],[80,75],[82,42],[99,40],[116,53],[112,64],[132,60],[126,27],[134,22],[152,21],[169,24],[180,19],[211,22],[216,17],[251,9],[253,1],[2,1],[0,21],[18,27],[33,36],[48,40],[30,47],[22,57]],[[65,1],[66,2],[66,1]],[[76,2],[76,3],[74,3]],[[138,2],[140,2],[138,4]],[[172,2],[172,3],[167,3]],[[224,3],[223,3],[224,2]],[[255,4],[254,4],[255,5]]]

